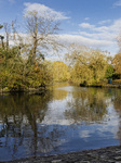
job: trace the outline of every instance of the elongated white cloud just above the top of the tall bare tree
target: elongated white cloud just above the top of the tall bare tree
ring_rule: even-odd
[[[49,7],[45,7],[44,4],[41,3],[29,3],[26,2],[24,3],[25,10],[24,14],[25,16],[28,15],[29,12],[36,11],[39,16],[43,18],[49,18],[49,17],[54,17],[54,20],[67,20],[69,17],[65,16],[63,12],[57,12]]]

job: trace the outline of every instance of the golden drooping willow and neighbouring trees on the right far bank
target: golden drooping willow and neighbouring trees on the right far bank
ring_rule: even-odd
[[[121,78],[121,53],[112,58],[107,51],[71,45],[66,59],[70,65],[69,80],[75,84],[97,86],[109,78]]]

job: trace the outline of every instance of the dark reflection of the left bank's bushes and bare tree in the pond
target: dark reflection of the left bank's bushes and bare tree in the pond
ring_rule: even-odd
[[[5,142],[2,141],[1,147],[5,147],[13,156],[19,147],[25,147],[25,152],[33,155],[56,147],[62,130],[41,124],[51,97],[49,93],[0,97],[0,138]]]

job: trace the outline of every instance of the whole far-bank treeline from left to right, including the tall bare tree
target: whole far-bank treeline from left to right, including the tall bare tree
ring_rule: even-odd
[[[56,38],[58,22],[37,12],[25,17],[26,33],[18,35],[12,22],[0,35],[0,89],[22,91],[40,88],[53,82],[71,82],[82,86],[103,85],[106,79],[121,78],[121,53],[113,58],[106,51],[70,45],[65,63],[45,60],[45,52],[62,45]],[[10,45],[10,37],[13,45]]]

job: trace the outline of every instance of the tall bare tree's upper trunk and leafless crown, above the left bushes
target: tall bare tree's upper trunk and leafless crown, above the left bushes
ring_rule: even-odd
[[[55,43],[53,34],[58,30],[59,23],[53,16],[43,17],[36,11],[28,12],[25,15],[25,23],[27,37],[29,35],[28,57],[33,64],[38,58],[44,58],[43,53],[46,49],[56,48],[57,43]]]

